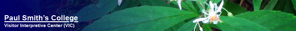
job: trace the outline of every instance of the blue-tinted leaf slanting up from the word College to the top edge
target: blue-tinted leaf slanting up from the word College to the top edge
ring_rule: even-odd
[[[88,6],[85,6],[83,9],[81,9],[79,12],[77,12],[73,16],[77,16],[79,18],[78,20],[76,20],[78,22],[98,19],[107,15],[109,12],[111,12],[116,7],[116,5],[118,5],[117,0],[112,0],[112,1],[101,0],[97,4],[90,4]],[[64,22],[64,23],[68,23],[68,22]]]

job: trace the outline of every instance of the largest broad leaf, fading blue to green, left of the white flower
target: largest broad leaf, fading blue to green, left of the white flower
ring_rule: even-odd
[[[83,31],[162,31],[198,16],[194,12],[171,7],[140,6],[106,15],[86,26]]]

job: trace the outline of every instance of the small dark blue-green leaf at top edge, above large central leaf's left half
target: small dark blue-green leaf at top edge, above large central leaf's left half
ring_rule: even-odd
[[[117,5],[117,7],[115,9],[113,9],[111,11],[111,13],[116,12],[116,11],[120,11],[126,8],[133,8],[133,7],[137,7],[138,5],[140,5],[138,0],[123,0],[121,2],[121,5]]]

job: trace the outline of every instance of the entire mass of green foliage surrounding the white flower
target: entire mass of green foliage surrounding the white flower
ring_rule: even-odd
[[[221,0],[210,1],[217,5],[221,3]],[[179,9],[177,1],[167,4],[163,0],[125,0],[120,6],[116,2],[100,1],[91,4],[74,16],[81,16],[77,20],[80,22],[101,18],[83,31],[192,31],[196,25],[193,21],[201,15],[198,11],[204,9],[201,6],[207,7],[204,2],[208,1],[182,1],[182,10]],[[222,31],[296,31],[296,16],[289,14],[295,14],[295,7],[292,7],[295,4],[291,3],[293,0],[271,0],[263,10],[260,10],[261,2],[262,0],[253,0],[255,11],[249,12],[236,3],[224,0],[223,8],[232,12],[234,17],[227,16],[228,13],[222,9],[220,20],[223,22],[199,24],[204,31],[216,31],[210,27]],[[137,7],[138,5],[141,6]],[[108,13],[111,14],[106,15]],[[199,26],[196,26],[196,31],[199,30]]]

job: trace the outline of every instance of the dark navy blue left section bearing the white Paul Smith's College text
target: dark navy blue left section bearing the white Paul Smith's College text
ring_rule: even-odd
[[[97,0],[0,0],[0,31],[81,31],[92,20],[73,16]],[[4,25],[3,25],[4,24]]]

